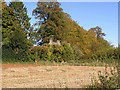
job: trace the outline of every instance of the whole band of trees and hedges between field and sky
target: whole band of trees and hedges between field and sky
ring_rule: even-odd
[[[63,12],[59,2],[38,2],[32,14],[38,20],[34,26],[30,25],[23,2],[9,5],[2,2],[3,60],[61,62],[119,58],[118,48],[103,38],[102,28],[83,29]],[[60,40],[62,45],[49,45],[50,38]],[[36,43],[39,45],[34,47]]]

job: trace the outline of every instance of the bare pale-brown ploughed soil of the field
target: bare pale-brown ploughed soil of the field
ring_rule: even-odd
[[[99,70],[105,67],[2,64],[2,88],[81,88]]]

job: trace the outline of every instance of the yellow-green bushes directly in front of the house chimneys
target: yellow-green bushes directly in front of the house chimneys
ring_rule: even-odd
[[[28,54],[33,61],[36,59],[55,62],[74,60],[73,48],[65,42],[63,42],[61,46],[49,44],[36,46],[29,49]]]

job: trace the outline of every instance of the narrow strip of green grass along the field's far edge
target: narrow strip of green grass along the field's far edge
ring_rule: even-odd
[[[17,61],[17,60],[8,60],[9,62],[7,62],[7,60],[3,60],[2,64],[36,64],[36,65],[49,65],[49,66],[61,66],[61,65],[68,65],[68,66],[105,66],[105,65],[109,65],[109,66],[113,66],[113,63],[118,63],[118,60],[79,60],[79,61],[69,61],[69,62],[52,62],[52,61],[44,61],[44,60],[40,60],[38,62],[34,62],[34,61]]]

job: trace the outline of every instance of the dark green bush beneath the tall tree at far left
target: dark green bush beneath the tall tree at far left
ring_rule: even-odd
[[[29,56],[26,51],[19,49],[13,50],[10,47],[2,47],[2,61],[3,62],[20,62],[29,61]]]

